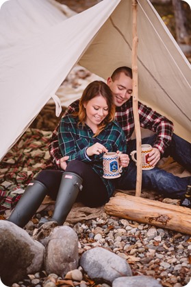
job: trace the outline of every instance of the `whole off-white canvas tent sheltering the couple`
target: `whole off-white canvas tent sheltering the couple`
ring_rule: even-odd
[[[67,18],[52,0],[10,0],[0,10],[0,159],[72,67],[107,78],[131,67],[131,0],[103,0]],[[139,99],[191,141],[190,64],[149,0],[138,0]]]

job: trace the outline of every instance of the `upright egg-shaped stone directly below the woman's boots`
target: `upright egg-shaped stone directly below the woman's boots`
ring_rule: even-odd
[[[44,268],[47,274],[64,278],[68,271],[77,269],[79,262],[78,238],[71,227],[55,227],[45,246]]]

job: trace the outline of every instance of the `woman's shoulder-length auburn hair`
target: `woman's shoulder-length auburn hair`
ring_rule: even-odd
[[[94,97],[97,97],[98,95],[101,95],[106,100],[108,106],[108,115],[98,125],[97,133],[95,133],[94,137],[99,135],[101,130],[103,130],[107,124],[112,122],[115,117],[115,105],[110,87],[107,86],[107,84],[105,84],[103,81],[96,80],[94,82],[90,82],[86,89],[84,89],[84,92],[81,95],[81,99],[79,100],[79,112],[73,113],[74,116],[79,117],[79,123],[81,123],[82,126],[85,126],[86,108],[84,107],[84,104],[87,104],[90,100],[92,100]]]

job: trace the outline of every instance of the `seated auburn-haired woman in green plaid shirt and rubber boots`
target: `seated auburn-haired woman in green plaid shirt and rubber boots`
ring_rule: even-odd
[[[129,157],[125,134],[114,121],[115,107],[110,88],[102,81],[88,84],[81,96],[79,113],[62,118],[58,139],[62,155],[68,155],[65,170],[42,170],[27,189],[9,221],[24,227],[49,195],[55,201],[49,220],[63,225],[78,199],[89,207],[105,204],[115,190],[115,179],[103,178],[103,152],[122,152],[119,163],[126,168]],[[39,226],[49,221],[41,218]]]

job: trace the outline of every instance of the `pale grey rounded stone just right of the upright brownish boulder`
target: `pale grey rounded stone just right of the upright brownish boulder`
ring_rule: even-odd
[[[120,276],[132,275],[125,259],[102,247],[95,247],[83,253],[79,263],[96,282],[110,284]]]

